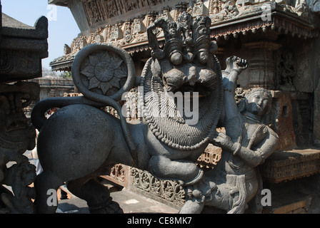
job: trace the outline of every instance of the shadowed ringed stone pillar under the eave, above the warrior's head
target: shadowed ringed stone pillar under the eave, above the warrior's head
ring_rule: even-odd
[[[276,63],[274,51],[281,47],[272,41],[255,41],[244,43],[244,47],[251,51],[249,62],[249,87],[263,87],[274,90]]]

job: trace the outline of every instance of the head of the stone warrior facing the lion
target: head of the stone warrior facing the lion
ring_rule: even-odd
[[[272,95],[265,88],[255,88],[246,94],[246,111],[259,118],[269,114],[271,103]]]

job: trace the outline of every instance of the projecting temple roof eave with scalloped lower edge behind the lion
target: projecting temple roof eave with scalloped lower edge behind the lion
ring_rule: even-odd
[[[275,4],[275,7],[271,11],[270,21],[261,18],[264,12],[261,9],[239,14],[231,19],[218,21],[211,15],[211,39],[219,41],[221,38],[228,39],[229,36],[236,38],[240,34],[248,36],[249,33],[256,33],[257,31],[266,33],[270,30],[279,34],[291,34],[294,38],[315,38],[319,35],[319,31],[315,29],[308,20],[303,19],[291,11],[284,11],[277,7]],[[126,42],[125,38],[121,38],[119,41],[101,43],[114,43],[116,46],[124,48],[124,50],[131,54],[150,50],[146,31],[140,34],[140,37],[137,41],[132,39],[129,43]],[[164,42],[163,34],[159,33],[158,38]],[[56,58],[56,60],[50,63],[52,70],[63,71],[63,69],[67,68],[70,71],[72,61],[77,52],[78,51]],[[61,61],[59,61],[59,59],[61,59]],[[66,61],[66,59],[68,59],[68,61]]]

